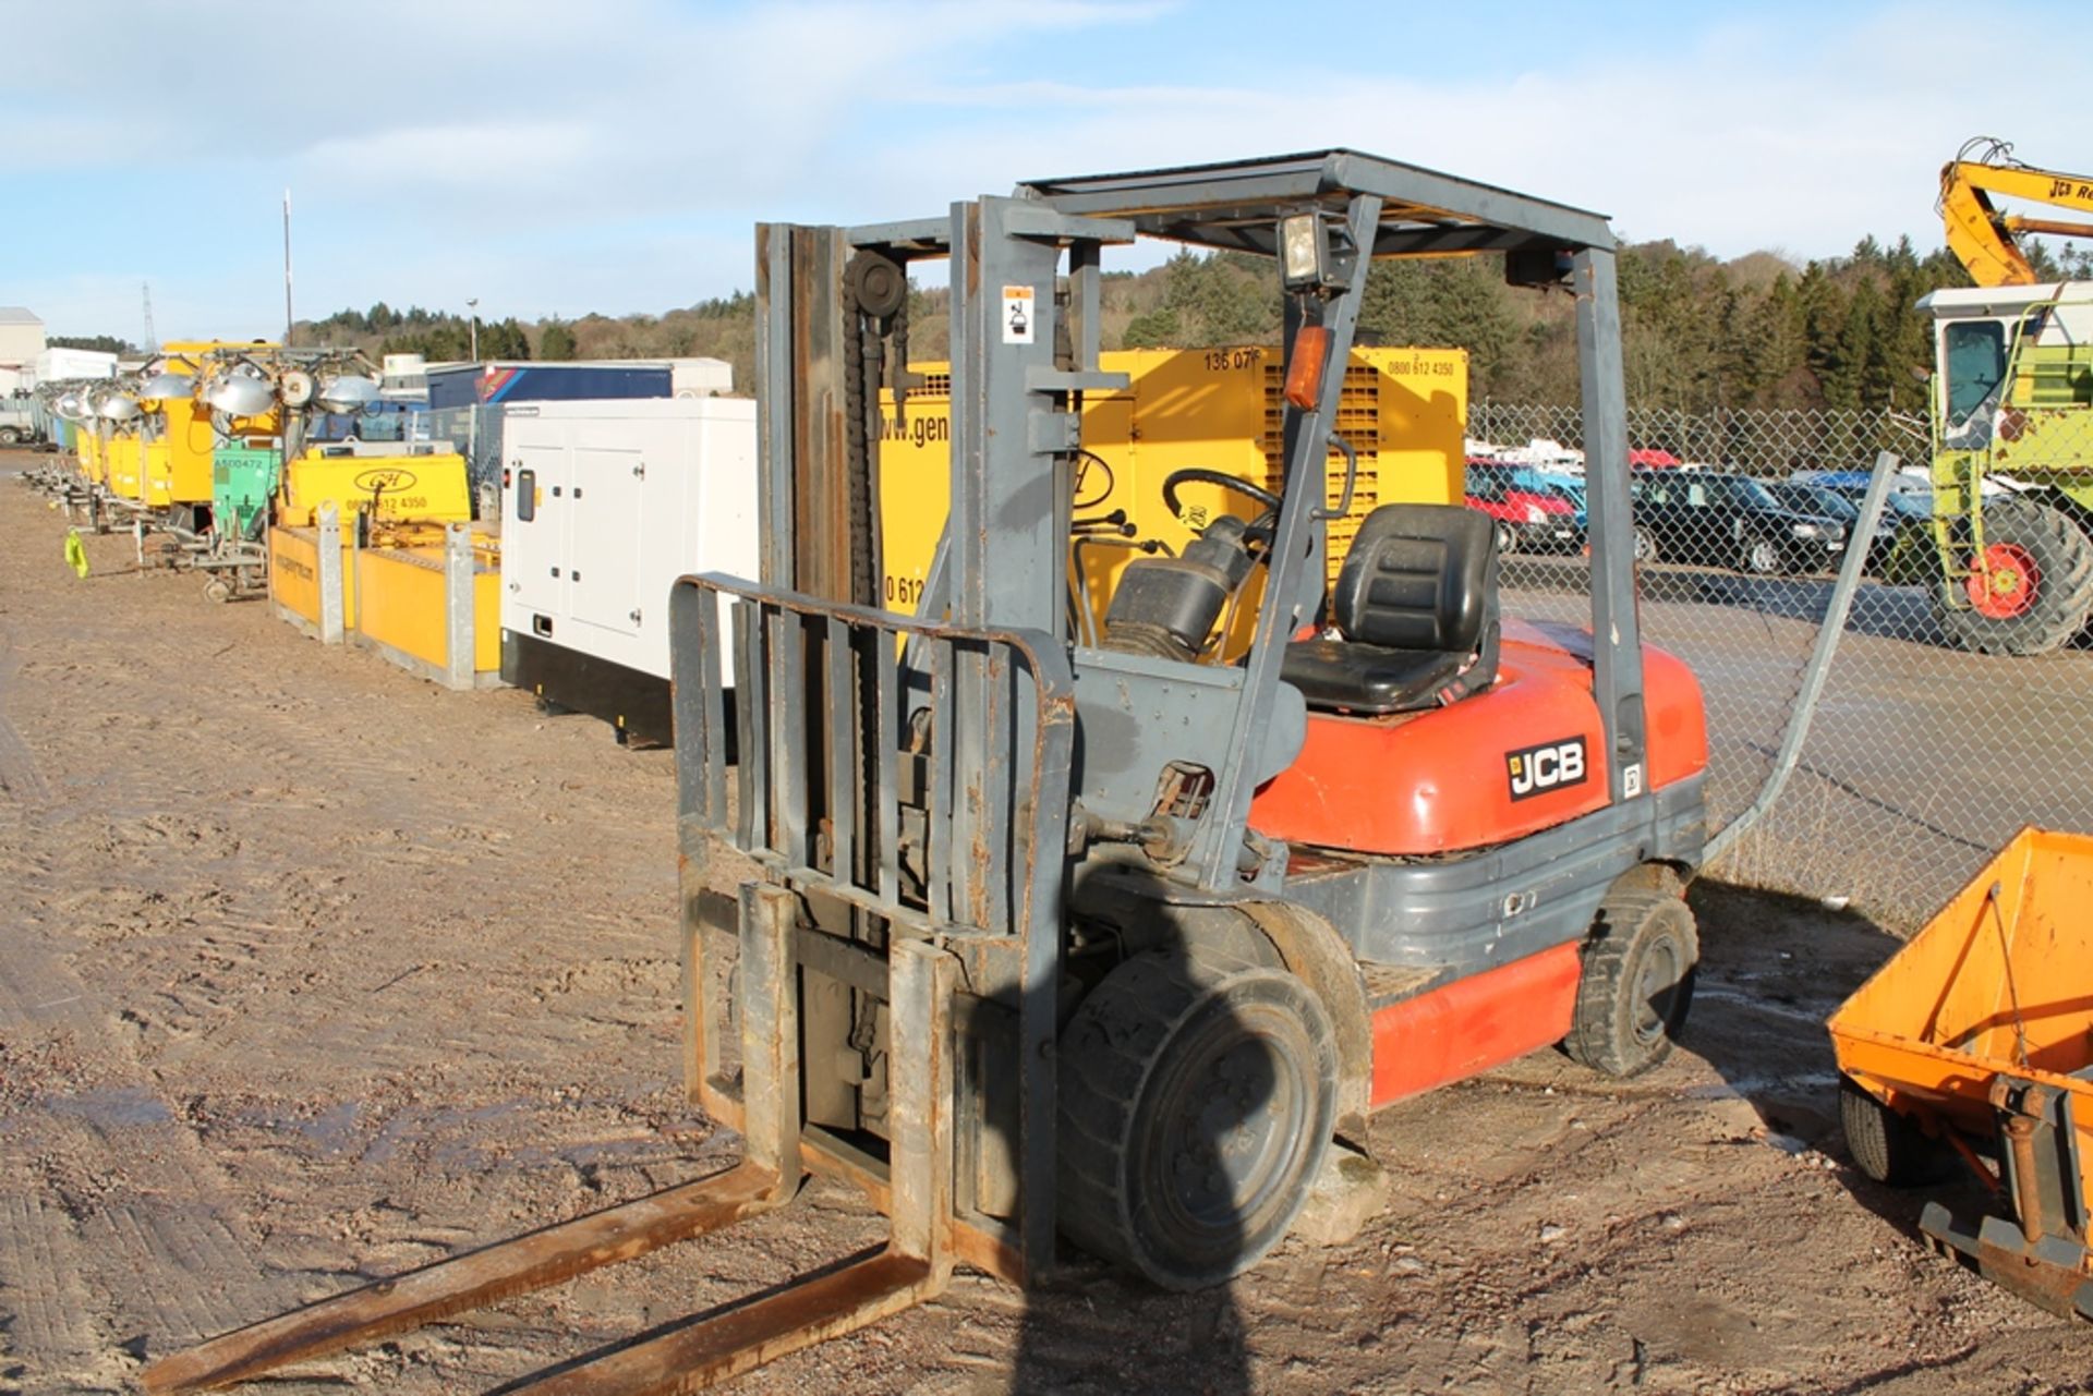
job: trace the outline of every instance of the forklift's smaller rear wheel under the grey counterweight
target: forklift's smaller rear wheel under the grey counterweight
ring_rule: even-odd
[[[1563,1051],[1607,1076],[1639,1076],[1672,1055],[1693,1007],[1700,936],[1672,892],[1610,892],[1599,904]]]

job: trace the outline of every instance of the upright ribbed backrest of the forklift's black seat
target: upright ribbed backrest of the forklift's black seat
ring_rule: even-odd
[[[1461,504],[1381,504],[1337,571],[1331,620],[1386,649],[1469,653],[1496,609],[1490,517]]]

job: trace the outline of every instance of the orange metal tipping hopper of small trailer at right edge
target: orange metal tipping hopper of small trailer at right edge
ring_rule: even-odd
[[[1974,1136],[1993,1132],[2001,1072],[2068,1093],[2093,1164],[2089,984],[2093,837],[2022,829],[1831,1015],[1831,1049],[1890,1109]]]

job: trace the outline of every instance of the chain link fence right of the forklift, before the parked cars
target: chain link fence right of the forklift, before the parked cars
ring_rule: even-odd
[[[2093,829],[2093,517],[2068,494],[2093,410],[1993,408],[1940,490],[1926,425],[1888,412],[1630,412],[1643,632],[1700,676],[1714,829],[1773,768],[1875,454],[1903,465],[1796,772],[1716,875],[1909,927],[2022,825]],[[1578,412],[1482,402],[1469,433],[1507,617],[1586,622]]]

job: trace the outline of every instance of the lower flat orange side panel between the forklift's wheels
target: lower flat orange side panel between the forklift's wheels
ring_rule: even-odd
[[[1373,1105],[1561,1042],[1576,1011],[1580,948],[1568,942],[1375,1011]]]

